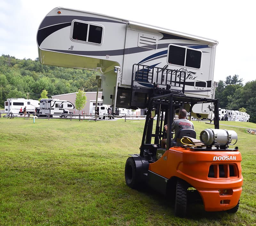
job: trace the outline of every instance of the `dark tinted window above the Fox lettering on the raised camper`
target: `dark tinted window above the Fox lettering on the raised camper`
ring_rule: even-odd
[[[168,63],[186,67],[201,67],[202,52],[187,47],[169,45]]]

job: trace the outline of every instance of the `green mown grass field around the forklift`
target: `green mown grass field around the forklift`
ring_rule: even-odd
[[[256,225],[256,136],[245,132],[256,124],[222,123],[237,132],[243,158],[239,210],[192,207],[181,219],[164,196],[125,184],[125,161],[139,153],[143,120],[0,118],[0,225]],[[213,128],[194,126],[197,135]]]

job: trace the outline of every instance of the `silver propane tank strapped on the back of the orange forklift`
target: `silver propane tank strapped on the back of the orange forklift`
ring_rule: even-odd
[[[206,146],[226,146],[231,144],[232,140],[237,142],[237,133],[234,130],[226,129],[204,129],[200,133],[200,141]]]

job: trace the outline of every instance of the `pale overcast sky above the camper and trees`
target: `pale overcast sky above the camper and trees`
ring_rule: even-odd
[[[0,0],[0,54],[38,57],[36,32],[55,7],[96,12],[219,42],[214,81],[256,79],[255,5],[251,0]]]

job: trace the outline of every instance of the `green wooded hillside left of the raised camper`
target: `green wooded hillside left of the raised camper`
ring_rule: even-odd
[[[16,59],[0,56],[0,107],[9,97],[39,99],[43,90],[48,96],[76,92],[78,89],[97,91],[95,72],[42,65],[38,58]],[[96,84],[96,85],[95,85]]]

